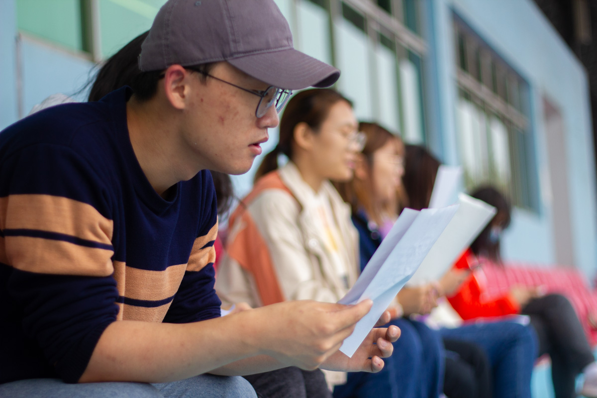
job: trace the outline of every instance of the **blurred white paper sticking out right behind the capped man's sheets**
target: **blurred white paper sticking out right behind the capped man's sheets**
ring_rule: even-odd
[[[408,281],[409,285],[441,278],[496,214],[493,206],[464,193],[458,195],[458,203],[456,215]]]

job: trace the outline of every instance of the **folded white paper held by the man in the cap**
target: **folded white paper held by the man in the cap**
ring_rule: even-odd
[[[413,276],[457,209],[458,205],[402,211],[355,285],[338,301],[355,304],[367,298],[373,300],[373,307],[356,323],[355,331],[344,340],[340,351],[349,357],[355,353],[383,311]]]

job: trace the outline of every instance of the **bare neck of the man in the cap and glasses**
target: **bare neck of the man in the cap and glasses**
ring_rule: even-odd
[[[140,103],[133,95],[127,103],[128,133],[137,161],[147,180],[165,198],[167,190],[183,180],[176,164],[175,125],[158,99]]]

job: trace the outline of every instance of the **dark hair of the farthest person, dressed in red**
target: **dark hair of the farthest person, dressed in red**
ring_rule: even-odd
[[[483,200],[497,210],[496,217],[501,219],[501,229],[506,229],[510,225],[512,207],[510,202],[497,189],[491,186],[479,187],[470,194],[473,198]],[[493,221],[493,220],[492,220]],[[470,249],[475,255],[485,255],[497,264],[501,262],[500,239],[491,240],[491,227],[493,223],[487,224],[484,230],[477,236],[477,239],[470,245]]]

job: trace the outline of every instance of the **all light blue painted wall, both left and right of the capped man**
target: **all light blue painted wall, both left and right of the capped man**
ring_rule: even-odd
[[[119,0],[106,1],[111,4],[108,8],[122,3]],[[146,13],[153,13],[161,2],[162,0],[145,0],[141,8]],[[0,1],[0,129],[18,118],[16,4],[16,0]],[[141,5],[140,2],[136,4]],[[452,16],[456,12],[530,85],[531,124],[536,144],[534,149],[540,181],[540,205],[537,212],[515,209],[512,227],[504,236],[504,257],[540,264],[555,262],[554,227],[547,181],[550,162],[543,134],[541,106],[543,95],[546,95],[561,110],[567,131],[562,156],[565,157],[568,169],[576,266],[587,276],[595,276],[595,159],[592,152],[587,78],[580,63],[531,0],[433,0],[425,1],[423,5],[421,32],[428,45],[428,54],[424,59],[425,106],[429,126],[428,143],[433,153],[446,163],[458,163],[457,87],[452,42]],[[116,8],[112,11],[116,12],[115,10]],[[104,16],[112,11],[104,11]],[[126,33],[130,36],[126,40],[146,29],[147,21],[149,14],[138,21],[139,26],[135,29],[139,32]],[[107,23],[107,20],[104,19],[102,23]],[[110,41],[112,39],[106,37],[106,44]],[[86,57],[29,36],[24,36],[21,40],[20,53],[21,98],[25,114],[34,104],[50,94],[76,94],[93,73],[93,63]],[[82,92],[77,98],[84,97],[85,92]],[[272,136],[270,142],[274,144],[276,131],[272,131]],[[246,177],[243,181],[249,183]]]

